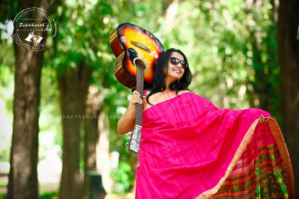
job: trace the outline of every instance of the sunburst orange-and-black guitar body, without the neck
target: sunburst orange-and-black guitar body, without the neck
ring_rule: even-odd
[[[109,37],[111,49],[116,57],[114,74],[124,86],[136,86],[136,66],[144,69],[143,88],[152,87],[154,67],[164,48],[149,31],[139,26],[124,23],[119,25]]]

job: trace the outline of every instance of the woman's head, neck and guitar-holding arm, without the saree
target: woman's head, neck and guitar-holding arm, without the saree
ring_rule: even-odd
[[[172,62],[169,58],[177,58],[185,62],[185,67],[188,66],[188,61],[184,53],[178,49],[168,49],[159,56],[159,59],[155,66],[154,71],[154,80],[152,88],[149,88],[148,91],[151,91],[147,98],[142,96],[136,90],[133,92],[133,96],[129,102],[127,110],[124,116],[118,121],[117,129],[120,134],[125,134],[132,131],[135,127],[135,114],[136,106],[135,104],[143,104],[143,111],[152,106],[148,100],[151,95],[162,95],[162,99],[169,99],[175,96],[178,96],[183,92],[188,91],[188,86],[191,83],[192,74],[187,67],[184,69],[181,62]],[[146,90],[145,90],[146,91]],[[171,92],[170,92],[171,91]],[[165,95],[164,95],[165,94]],[[145,101],[146,99],[146,101]],[[155,101],[157,102],[157,101]]]

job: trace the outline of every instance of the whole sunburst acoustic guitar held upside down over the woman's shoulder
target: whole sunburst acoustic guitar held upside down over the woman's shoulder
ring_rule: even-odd
[[[133,24],[119,25],[109,37],[111,49],[116,57],[114,74],[116,79],[132,92],[152,87],[154,67],[164,48],[149,31]],[[141,140],[142,104],[136,104],[136,125],[129,132],[128,150],[138,153]]]

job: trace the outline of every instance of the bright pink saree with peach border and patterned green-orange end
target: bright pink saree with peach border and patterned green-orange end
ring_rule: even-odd
[[[218,109],[190,91],[154,95],[144,103],[135,198],[294,198],[291,160],[268,112]],[[271,119],[258,123],[261,114]]]

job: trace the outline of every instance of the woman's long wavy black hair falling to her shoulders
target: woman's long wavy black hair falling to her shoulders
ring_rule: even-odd
[[[170,58],[172,52],[178,52],[184,57],[184,61],[187,62],[188,60],[184,53],[179,49],[168,49],[164,53],[162,53],[156,63],[155,71],[154,71],[154,80],[153,80],[153,86],[151,88],[148,88],[150,93],[146,96],[146,102],[150,104],[149,97],[150,95],[153,95],[155,93],[162,92],[166,90],[166,85],[164,82],[164,79],[167,76],[168,73],[168,58]],[[177,90],[176,94],[178,96],[178,91],[180,90],[189,90],[188,86],[191,84],[192,81],[192,73],[190,71],[190,67],[188,64],[188,67],[185,69],[184,74],[182,78],[180,79],[179,83],[177,81],[171,82],[169,84],[169,89],[171,91]],[[151,104],[154,105],[154,104]]]

